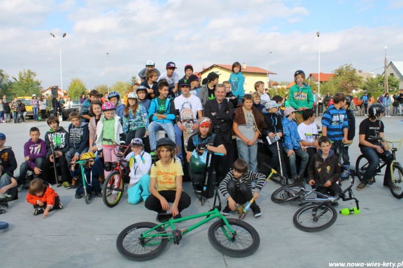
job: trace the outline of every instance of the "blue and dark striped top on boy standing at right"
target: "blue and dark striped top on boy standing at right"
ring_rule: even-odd
[[[327,137],[331,141],[342,141],[344,138],[343,130],[349,128],[347,112],[343,108],[340,110],[330,105],[322,116],[322,127],[327,128]]]

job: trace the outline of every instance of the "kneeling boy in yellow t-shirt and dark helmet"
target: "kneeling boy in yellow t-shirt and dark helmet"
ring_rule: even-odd
[[[170,138],[157,142],[156,155],[160,158],[151,167],[150,193],[145,206],[160,213],[170,211],[174,219],[190,206],[190,197],[182,191],[182,165],[175,160],[175,143]],[[168,202],[172,203],[171,208]],[[158,217],[157,217],[158,218]]]

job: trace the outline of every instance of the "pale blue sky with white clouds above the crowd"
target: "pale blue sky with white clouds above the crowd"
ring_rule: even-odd
[[[175,62],[180,77],[187,63],[245,62],[279,82],[317,73],[319,50],[325,73],[346,63],[382,73],[385,46],[388,62],[403,61],[396,0],[0,0],[0,10],[0,69],[31,69],[43,88],[60,85],[60,45],[63,88],[80,78],[91,89],[108,73],[110,86],[128,81],[149,59],[160,71]]]

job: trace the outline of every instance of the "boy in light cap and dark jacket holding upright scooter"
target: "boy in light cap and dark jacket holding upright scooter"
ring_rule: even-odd
[[[264,129],[263,132],[267,138],[264,138],[263,142],[272,154],[270,165],[276,170],[279,170],[280,174],[287,178],[282,150],[283,145],[281,142],[281,138],[283,137],[282,116],[277,113],[277,109],[280,106],[281,105],[276,103],[276,101],[268,101],[265,103],[267,113],[263,114],[263,117],[267,128]],[[273,175],[272,178],[273,180],[280,180],[278,174]]]

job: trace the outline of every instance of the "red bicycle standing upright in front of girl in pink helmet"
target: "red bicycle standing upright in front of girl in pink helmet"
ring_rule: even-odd
[[[103,141],[108,141],[113,144],[113,146],[117,146],[119,151],[115,153],[115,150],[112,150],[112,153],[115,153],[117,157],[117,162],[112,163],[112,172],[105,178],[104,185],[102,187],[102,200],[104,204],[113,208],[116,206],[120,199],[123,196],[124,192],[124,177],[128,176],[130,173],[130,168],[128,166],[128,161],[124,160],[124,156],[126,155],[127,150],[130,149],[130,145],[119,145],[111,139],[102,139]],[[113,165],[116,167],[113,168]]]

